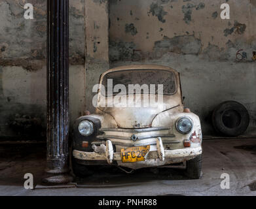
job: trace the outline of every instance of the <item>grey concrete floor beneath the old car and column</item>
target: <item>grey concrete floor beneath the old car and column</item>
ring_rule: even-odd
[[[19,147],[17,149],[17,147]],[[45,144],[0,146],[0,195],[256,195],[256,139],[203,142],[202,178],[187,180],[180,169],[142,169],[132,174],[99,169],[94,176],[75,179],[69,187],[24,189],[24,174],[39,183],[45,169]],[[221,189],[221,174],[230,189]]]

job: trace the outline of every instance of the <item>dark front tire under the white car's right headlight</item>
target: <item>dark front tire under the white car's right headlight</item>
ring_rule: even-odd
[[[202,170],[202,155],[197,155],[195,158],[187,161],[186,176],[191,179],[198,179],[201,177]]]

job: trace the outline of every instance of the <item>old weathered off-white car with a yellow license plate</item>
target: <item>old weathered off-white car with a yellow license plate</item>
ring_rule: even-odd
[[[183,106],[177,71],[116,67],[101,74],[96,90],[95,114],[81,116],[73,127],[75,175],[86,176],[92,165],[140,169],[182,163],[189,178],[200,178],[200,119]]]

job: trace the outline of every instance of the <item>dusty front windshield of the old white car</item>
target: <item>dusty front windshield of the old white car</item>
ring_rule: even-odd
[[[173,95],[177,84],[174,72],[156,69],[134,69],[105,74],[101,84],[105,87],[102,95],[139,93]]]

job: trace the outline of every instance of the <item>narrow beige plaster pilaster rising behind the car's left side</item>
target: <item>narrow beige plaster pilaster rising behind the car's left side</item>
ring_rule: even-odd
[[[109,69],[109,3],[86,1],[86,110],[94,112],[92,88],[102,72]]]

